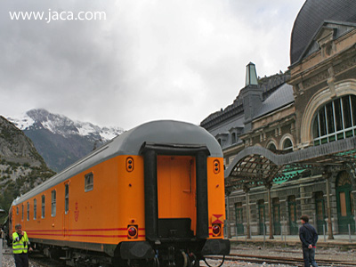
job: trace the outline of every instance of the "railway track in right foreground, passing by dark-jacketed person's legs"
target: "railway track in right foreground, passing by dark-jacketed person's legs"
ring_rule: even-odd
[[[222,261],[222,256],[210,256],[206,257],[208,259],[214,259]],[[267,264],[287,264],[291,266],[301,266],[303,267],[303,259],[296,257],[285,257],[285,256],[269,256],[269,255],[241,255],[241,254],[231,254],[225,256],[225,261],[232,262],[247,262],[247,263],[267,263]],[[334,266],[334,267],[352,267],[356,266],[355,262],[341,261],[341,260],[323,260],[318,259],[317,263],[322,266]],[[216,265],[210,264],[209,265]]]

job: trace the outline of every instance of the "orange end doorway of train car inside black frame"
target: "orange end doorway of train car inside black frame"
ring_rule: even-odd
[[[191,238],[196,231],[195,158],[158,156],[158,237]]]

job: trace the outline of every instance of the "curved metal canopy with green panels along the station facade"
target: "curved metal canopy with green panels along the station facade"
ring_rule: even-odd
[[[354,168],[355,163],[356,137],[289,153],[253,146],[240,151],[225,170],[225,187],[231,191],[271,186],[321,174],[328,166]]]

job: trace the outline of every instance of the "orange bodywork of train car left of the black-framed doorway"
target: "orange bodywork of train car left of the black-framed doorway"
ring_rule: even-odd
[[[134,162],[132,170],[127,169],[127,158]],[[88,174],[93,176],[93,187],[85,190]],[[135,239],[143,240],[143,191],[142,157],[119,156],[13,206],[19,210],[13,212],[13,221],[23,225],[30,239],[41,242],[117,245],[132,240],[127,236],[131,224],[139,230]]]

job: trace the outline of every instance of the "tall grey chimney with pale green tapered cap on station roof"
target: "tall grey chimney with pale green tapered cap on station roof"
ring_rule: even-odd
[[[258,85],[255,64],[249,62],[246,66],[246,84],[241,90],[244,102],[245,130],[251,129],[251,122],[262,106],[262,88]]]

